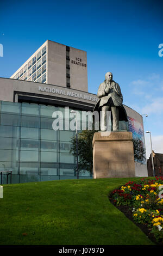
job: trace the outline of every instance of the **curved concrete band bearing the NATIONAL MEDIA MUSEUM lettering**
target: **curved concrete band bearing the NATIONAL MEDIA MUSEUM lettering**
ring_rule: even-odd
[[[81,105],[87,103],[95,105],[97,102],[97,96],[95,94],[82,92],[80,90],[74,90],[71,88],[53,86],[52,84],[43,84],[29,81],[16,80],[11,78],[0,78],[0,100],[11,101],[14,99],[14,91],[38,94],[38,97],[44,95],[58,96],[68,100],[78,101]],[[66,105],[66,104],[65,104]]]

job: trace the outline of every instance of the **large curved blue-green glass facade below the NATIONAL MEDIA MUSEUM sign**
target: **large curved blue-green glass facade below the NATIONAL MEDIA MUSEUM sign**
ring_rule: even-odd
[[[61,111],[64,117],[64,110],[0,101],[0,170],[12,170],[12,183],[77,178],[76,157],[69,153],[75,130],[52,128],[53,112]],[[79,178],[92,177],[85,172]],[[5,183],[6,175],[3,179]]]

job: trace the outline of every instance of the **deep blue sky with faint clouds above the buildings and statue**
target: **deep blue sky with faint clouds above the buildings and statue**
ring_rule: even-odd
[[[157,0],[1,1],[0,77],[10,77],[47,39],[84,50],[89,92],[96,94],[111,71],[123,103],[148,114],[144,129],[163,153],[162,7]],[[149,134],[145,139],[148,157]]]

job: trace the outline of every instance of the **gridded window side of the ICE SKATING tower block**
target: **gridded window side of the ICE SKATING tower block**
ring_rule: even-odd
[[[13,77],[14,79],[27,80],[39,83],[47,82],[47,47],[43,47],[42,50],[37,53],[28,64],[17,72]]]

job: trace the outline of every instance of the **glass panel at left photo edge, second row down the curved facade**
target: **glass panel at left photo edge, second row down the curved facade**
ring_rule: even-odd
[[[21,124],[20,115],[1,114],[1,124],[20,126]]]

